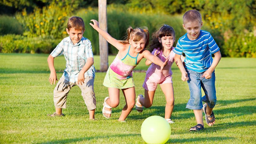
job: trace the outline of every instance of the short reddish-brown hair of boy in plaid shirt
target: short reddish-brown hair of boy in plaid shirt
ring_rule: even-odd
[[[67,29],[70,30],[74,28],[75,30],[85,30],[84,29],[84,22],[81,17],[72,16],[67,21]]]

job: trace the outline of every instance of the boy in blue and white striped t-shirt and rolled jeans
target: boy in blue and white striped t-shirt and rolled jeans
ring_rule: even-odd
[[[221,60],[220,48],[207,31],[201,30],[202,16],[197,10],[189,10],[183,15],[183,28],[187,31],[179,38],[175,52],[175,63],[182,73],[182,81],[187,81],[190,90],[190,99],[186,105],[195,114],[197,125],[190,131],[204,129],[202,110],[205,113],[207,125],[215,123],[212,109],[216,104],[215,73],[214,69]],[[180,59],[185,54],[185,65]],[[214,59],[211,57],[214,54]],[[201,87],[205,92],[202,97]],[[202,105],[202,101],[206,104]]]

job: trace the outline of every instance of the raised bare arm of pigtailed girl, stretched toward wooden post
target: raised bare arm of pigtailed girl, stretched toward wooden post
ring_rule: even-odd
[[[90,23],[90,25],[93,27],[93,29],[95,29],[99,34],[101,34],[111,45],[120,50],[120,47],[122,47],[123,44],[118,42],[118,40],[113,38],[111,35],[109,35],[109,33],[99,28],[99,22],[97,20],[91,19],[91,21],[93,22],[93,24]]]

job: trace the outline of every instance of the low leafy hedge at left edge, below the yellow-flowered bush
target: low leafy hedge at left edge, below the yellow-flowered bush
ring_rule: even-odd
[[[0,52],[2,53],[50,53],[61,42],[61,39],[27,38],[22,35],[0,36]]]

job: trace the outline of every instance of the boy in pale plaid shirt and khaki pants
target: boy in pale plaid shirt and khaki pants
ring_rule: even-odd
[[[56,112],[49,116],[64,116],[62,109],[66,108],[67,94],[73,86],[78,86],[89,111],[89,119],[95,120],[96,99],[93,90],[95,67],[93,66],[93,51],[90,40],[83,37],[84,22],[81,17],[70,17],[67,22],[69,37],[64,38],[51,52],[47,61],[51,71],[49,82],[55,84],[57,79],[54,68],[54,58],[64,55],[66,69],[54,88],[53,101]]]

